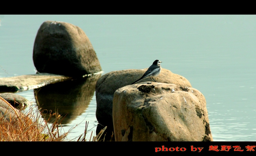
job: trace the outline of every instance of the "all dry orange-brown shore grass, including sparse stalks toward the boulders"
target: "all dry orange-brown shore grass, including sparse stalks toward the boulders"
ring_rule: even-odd
[[[1,102],[7,102],[0,99]],[[7,102],[7,104],[9,104]],[[10,104],[9,104],[10,105]],[[10,107],[12,107],[10,105]],[[14,109],[12,107],[12,109]],[[14,109],[15,110],[15,109]],[[68,132],[64,131],[61,126],[61,121],[64,117],[60,117],[58,113],[52,113],[50,118],[54,117],[54,122],[49,124],[46,120],[41,120],[41,115],[30,108],[27,112],[16,111],[16,117],[10,117],[10,120],[6,120],[4,116],[0,116],[0,141],[72,141],[67,140]],[[61,120],[62,119],[62,120]],[[49,126],[51,125],[51,126]],[[97,136],[90,135],[90,139],[86,139],[88,122],[84,134],[80,135],[75,141],[99,141],[102,137],[106,127],[101,130]],[[74,127],[75,128],[75,127]]]

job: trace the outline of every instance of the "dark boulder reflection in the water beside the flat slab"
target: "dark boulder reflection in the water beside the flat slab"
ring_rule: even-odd
[[[95,85],[101,74],[91,77],[64,81],[56,84],[34,89],[35,100],[38,109],[42,111],[42,117],[49,118],[49,112],[58,112],[65,116],[61,124],[68,124],[85,112],[94,95]],[[57,110],[57,111],[56,111]],[[55,117],[50,118],[52,122]]]

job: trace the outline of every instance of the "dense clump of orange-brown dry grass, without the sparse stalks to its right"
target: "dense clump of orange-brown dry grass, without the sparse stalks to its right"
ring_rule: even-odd
[[[63,141],[67,133],[60,135],[61,129],[56,121],[49,127],[45,120],[39,120],[38,113],[29,110],[27,113],[17,112],[16,119],[0,118],[0,141]]]

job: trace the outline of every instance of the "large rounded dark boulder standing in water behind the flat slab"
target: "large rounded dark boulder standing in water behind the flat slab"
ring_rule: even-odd
[[[35,38],[33,61],[39,73],[80,77],[102,70],[84,31],[65,22],[42,23]]]

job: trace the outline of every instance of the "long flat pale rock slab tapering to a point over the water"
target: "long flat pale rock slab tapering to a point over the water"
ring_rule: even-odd
[[[36,89],[52,83],[74,79],[63,75],[40,73],[0,78],[0,93]]]

